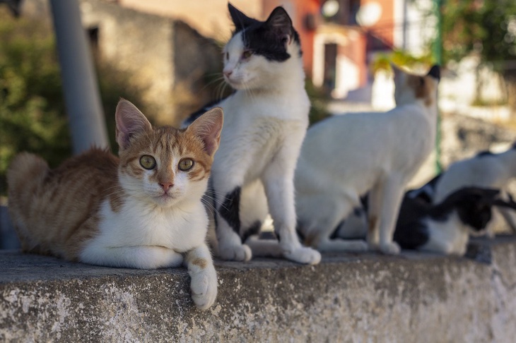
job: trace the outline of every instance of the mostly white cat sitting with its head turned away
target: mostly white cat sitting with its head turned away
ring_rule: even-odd
[[[394,68],[397,107],[333,116],[307,131],[295,169],[298,231],[319,251],[360,251],[360,241],[332,240],[339,222],[369,192],[368,243],[399,253],[392,241],[404,187],[435,144],[440,69],[414,76]]]

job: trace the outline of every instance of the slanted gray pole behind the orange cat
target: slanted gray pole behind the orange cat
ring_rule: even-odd
[[[50,0],[50,4],[74,153],[92,146],[108,148],[97,79],[78,2]]]

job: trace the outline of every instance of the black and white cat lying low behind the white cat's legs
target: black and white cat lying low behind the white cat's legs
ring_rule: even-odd
[[[515,210],[515,203],[499,198],[492,188],[463,187],[447,195],[440,203],[428,201],[428,195],[415,190],[405,193],[399,209],[394,241],[401,248],[464,255],[469,236],[486,232],[493,208]],[[334,239],[363,239],[367,219],[362,211],[354,212],[336,228]]]

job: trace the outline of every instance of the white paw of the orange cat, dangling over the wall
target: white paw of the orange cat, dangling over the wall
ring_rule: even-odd
[[[217,275],[213,267],[190,275],[192,300],[199,310],[206,310],[217,297]]]

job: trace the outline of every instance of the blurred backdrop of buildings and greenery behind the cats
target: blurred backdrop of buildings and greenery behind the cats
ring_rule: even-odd
[[[51,167],[74,152],[52,1],[0,0],[4,204],[5,172],[17,152],[35,152]],[[114,152],[119,97],[136,104],[154,124],[178,125],[230,92],[221,80],[221,47],[233,30],[227,1],[71,1],[80,11],[102,125]],[[232,3],[261,20],[276,6],[286,8],[300,33],[312,122],[341,112],[392,108],[389,61],[418,72],[441,64],[438,149],[414,185],[450,162],[479,150],[504,150],[515,140],[514,0]]]

